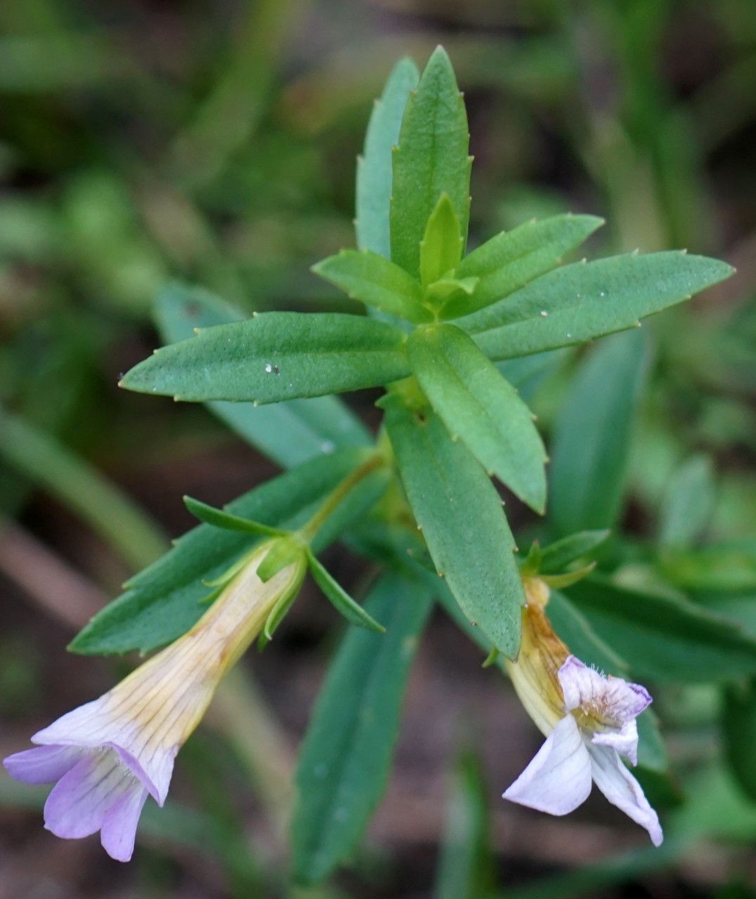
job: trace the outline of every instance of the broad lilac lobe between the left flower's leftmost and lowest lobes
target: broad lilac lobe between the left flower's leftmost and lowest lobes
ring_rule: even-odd
[[[45,803],[45,827],[76,839],[102,827],[105,814],[138,780],[113,752],[92,752],[58,780]]]

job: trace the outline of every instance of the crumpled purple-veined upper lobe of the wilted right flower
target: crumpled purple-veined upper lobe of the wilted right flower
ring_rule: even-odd
[[[574,655],[567,657],[558,677],[568,712],[582,708],[586,713],[624,724],[651,705],[648,690],[639,683],[604,677]]]

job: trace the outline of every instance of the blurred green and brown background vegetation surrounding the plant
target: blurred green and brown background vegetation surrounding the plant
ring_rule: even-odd
[[[556,531],[609,517],[627,589],[756,633],[756,5],[10,0],[0,29],[0,752],[127,670],[63,647],[191,527],[181,495],[219,505],[276,470],[200,406],[115,386],[158,343],[157,290],[344,308],[309,266],[353,244],[354,157],[387,72],[439,41],[466,93],[473,241],[572,210],[608,219],[591,254],[687,247],[738,268],[654,319],[629,362],[627,342],[560,353],[527,398],[560,471]],[[367,423],[372,398],[352,397]],[[597,441],[610,464],[585,477]],[[533,518],[508,509],[524,538]],[[329,565],[352,592],[369,576],[342,547]],[[355,867],[289,889],[293,750],[339,636],[324,606],[300,601],[218,695],[129,867],[55,841],[39,796],[0,778],[0,894],[753,895],[748,685],[655,691],[673,774],[645,786],[674,824],[654,851],[600,800],[569,820],[498,800],[539,737],[441,612]]]

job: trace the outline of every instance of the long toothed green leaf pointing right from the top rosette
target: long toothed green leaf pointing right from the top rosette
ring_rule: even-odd
[[[641,318],[733,271],[716,259],[679,252],[574,263],[530,281],[461,324],[477,334],[476,343],[494,360],[527,356],[636,327]]]

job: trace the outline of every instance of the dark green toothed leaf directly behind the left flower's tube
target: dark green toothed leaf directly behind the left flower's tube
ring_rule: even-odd
[[[303,524],[325,496],[368,457],[366,450],[340,449],[312,459],[255,487],[228,504],[232,514],[281,530]],[[74,638],[76,653],[146,653],[181,636],[200,618],[207,596],[204,582],[225,574],[253,545],[249,534],[208,524],[190,530],[173,549],[125,584],[111,602]]]

